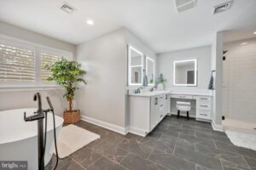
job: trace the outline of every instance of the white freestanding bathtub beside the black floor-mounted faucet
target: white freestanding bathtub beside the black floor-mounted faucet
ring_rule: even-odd
[[[28,170],[38,170],[38,122],[25,122],[23,113],[31,116],[37,109],[0,111],[0,161],[27,161]],[[55,116],[56,135],[63,119]],[[48,113],[47,144],[44,156],[46,166],[55,149],[53,116]]]

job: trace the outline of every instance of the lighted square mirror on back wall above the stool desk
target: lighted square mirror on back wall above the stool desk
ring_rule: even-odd
[[[174,86],[197,86],[197,59],[173,62]]]

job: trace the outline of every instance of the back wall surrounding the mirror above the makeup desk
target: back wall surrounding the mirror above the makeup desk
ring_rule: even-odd
[[[196,87],[173,86],[173,61],[183,59],[197,59],[198,80]],[[170,53],[158,54],[158,75],[163,73],[166,78],[166,89],[188,90],[189,92],[208,91],[211,77],[211,47],[189,48]]]

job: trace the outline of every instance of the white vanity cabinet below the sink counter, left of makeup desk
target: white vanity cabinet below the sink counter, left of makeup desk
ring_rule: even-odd
[[[146,136],[169,113],[169,94],[129,95],[130,132]]]

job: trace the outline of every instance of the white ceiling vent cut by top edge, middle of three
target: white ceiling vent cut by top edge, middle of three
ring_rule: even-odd
[[[189,10],[190,8],[195,8],[196,0],[174,0],[177,13]]]

